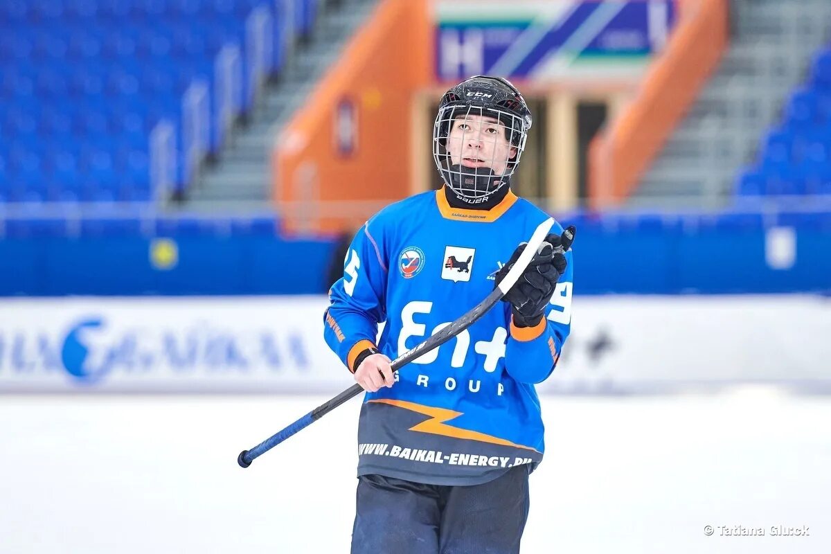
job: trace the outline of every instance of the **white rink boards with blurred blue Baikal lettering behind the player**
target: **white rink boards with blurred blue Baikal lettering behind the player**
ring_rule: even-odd
[[[0,392],[334,393],[352,381],[322,340],[326,306],[317,296],[4,299]],[[575,297],[572,330],[541,392],[831,390],[826,297]]]

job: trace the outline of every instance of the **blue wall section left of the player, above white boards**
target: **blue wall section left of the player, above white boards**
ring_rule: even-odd
[[[293,294],[325,292],[330,240],[175,239],[175,267],[150,262],[150,239],[0,241],[0,296]]]

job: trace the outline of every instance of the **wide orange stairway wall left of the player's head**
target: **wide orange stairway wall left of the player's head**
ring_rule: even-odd
[[[430,28],[425,0],[383,0],[277,137],[273,201],[286,231],[356,228],[409,194]]]

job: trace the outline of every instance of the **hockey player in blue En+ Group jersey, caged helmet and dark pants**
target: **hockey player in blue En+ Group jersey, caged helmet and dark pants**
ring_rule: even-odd
[[[519,552],[543,458],[534,384],[571,323],[573,228],[555,223],[506,302],[469,329],[395,375],[390,360],[481,302],[548,218],[510,189],[531,122],[504,79],[447,91],[433,135],[444,187],[366,222],[332,286],[324,335],[366,389],[353,554]]]

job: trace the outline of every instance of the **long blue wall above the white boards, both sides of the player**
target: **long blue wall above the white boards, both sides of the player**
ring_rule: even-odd
[[[564,223],[571,223],[568,219]],[[831,232],[795,227],[794,267],[765,261],[765,229],[751,220],[695,226],[649,218],[578,222],[577,294],[831,292]],[[326,292],[337,241],[273,234],[181,233],[178,262],[150,262],[142,236],[0,240],[0,295],[314,294]]]

